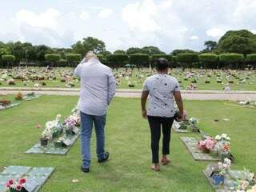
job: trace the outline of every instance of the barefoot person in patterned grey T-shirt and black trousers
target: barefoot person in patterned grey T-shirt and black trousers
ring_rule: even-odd
[[[169,62],[159,58],[156,62],[158,74],[146,78],[142,90],[142,117],[147,118],[151,131],[152,170],[159,171],[159,140],[162,126],[162,165],[170,163],[170,130],[174,122],[174,98],[178,105],[178,118],[183,118],[183,102],[176,78],[168,75]],[[150,95],[148,110],[146,100]]]

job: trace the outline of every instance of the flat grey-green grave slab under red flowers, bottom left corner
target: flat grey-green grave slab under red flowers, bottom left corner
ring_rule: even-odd
[[[25,188],[37,192],[54,172],[54,167],[8,166],[0,173],[0,192],[9,191],[6,182],[9,179],[26,178]]]

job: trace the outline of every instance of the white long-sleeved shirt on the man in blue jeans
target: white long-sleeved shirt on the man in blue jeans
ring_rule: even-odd
[[[115,80],[110,67],[92,58],[88,62],[82,60],[74,74],[81,78],[78,109],[96,116],[106,114],[115,93]]]

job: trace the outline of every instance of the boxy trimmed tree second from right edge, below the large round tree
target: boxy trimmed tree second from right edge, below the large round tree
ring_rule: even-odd
[[[228,64],[230,67],[238,69],[238,63],[242,63],[244,56],[243,54],[220,54],[219,60],[225,64],[224,68]]]

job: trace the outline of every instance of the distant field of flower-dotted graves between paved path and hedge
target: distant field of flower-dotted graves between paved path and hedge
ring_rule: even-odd
[[[142,89],[147,77],[156,70],[119,68],[113,70],[119,89]],[[182,90],[256,90],[254,70],[182,70],[173,69],[170,75],[178,79]],[[74,68],[13,68],[0,69],[0,87],[79,88]]]

